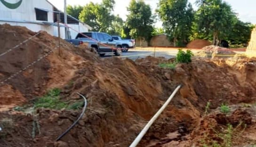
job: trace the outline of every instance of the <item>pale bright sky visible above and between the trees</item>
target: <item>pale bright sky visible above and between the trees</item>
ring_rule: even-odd
[[[64,10],[64,0],[48,0],[54,6],[60,10]],[[86,5],[88,2],[100,3],[102,0],[67,0],[67,5]],[[144,0],[146,4],[149,4],[152,11],[155,12],[157,8],[157,3],[159,0]],[[188,0],[193,4],[194,9],[196,0]],[[239,18],[243,22],[251,22],[256,24],[256,0],[224,0],[232,6],[232,9],[239,14]],[[126,15],[128,15],[127,8],[130,0],[115,0],[116,4],[114,7],[114,15],[120,15],[123,20],[126,20]],[[161,22],[158,21],[156,27],[161,27]]]

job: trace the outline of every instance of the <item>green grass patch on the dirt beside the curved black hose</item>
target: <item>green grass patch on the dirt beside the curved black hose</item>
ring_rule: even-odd
[[[48,93],[42,97],[40,97],[35,103],[35,108],[48,108],[54,110],[61,110],[63,108],[67,108],[66,102],[60,101],[61,90],[58,88],[54,88],[48,91]]]

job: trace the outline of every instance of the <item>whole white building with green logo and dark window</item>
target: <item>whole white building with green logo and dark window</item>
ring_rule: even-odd
[[[64,23],[64,13],[59,11],[48,0],[0,0],[0,24],[24,26],[32,31],[45,30],[53,36],[58,36],[58,29],[53,23],[57,22],[60,14]],[[87,24],[74,17],[67,16],[68,26],[79,32],[91,29]],[[64,25],[61,25],[61,37],[65,38]],[[71,38],[75,38],[76,31],[69,29]]]

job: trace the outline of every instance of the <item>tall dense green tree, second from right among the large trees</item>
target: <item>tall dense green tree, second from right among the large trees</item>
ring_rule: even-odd
[[[156,12],[174,46],[189,41],[194,12],[188,0],[159,0]]]

